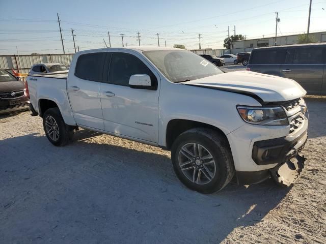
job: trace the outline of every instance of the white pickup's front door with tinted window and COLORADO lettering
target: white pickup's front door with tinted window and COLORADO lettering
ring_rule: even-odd
[[[152,84],[159,86],[159,76],[144,62],[141,56],[112,52],[107,83],[100,85],[104,130],[157,143],[159,88],[134,89],[128,85],[131,75],[148,74]]]

